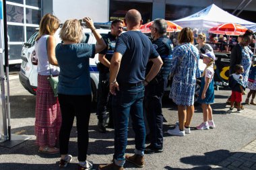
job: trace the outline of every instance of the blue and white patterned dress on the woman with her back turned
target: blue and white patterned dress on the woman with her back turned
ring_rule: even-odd
[[[177,105],[194,104],[196,75],[200,77],[198,61],[199,52],[191,43],[181,44],[173,50],[170,68],[173,79],[169,97]]]

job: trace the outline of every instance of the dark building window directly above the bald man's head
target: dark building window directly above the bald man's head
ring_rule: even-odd
[[[137,9],[141,13],[143,24],[152,20],[152,3],[117,0],[110,0],[109,2],[109,20],[124,19],[129,9]]]

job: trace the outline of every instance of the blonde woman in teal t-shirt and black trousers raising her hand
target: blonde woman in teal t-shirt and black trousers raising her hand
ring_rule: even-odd
[[[59,132],[59,146],[61,161],[59,167],[66,167],[72,159],[68,155],[69,135],[74,117],[77,124],[78,169],[92,169],[92,163],[86,161],[88,151],[88,126],[90,120],[90,103],[92,91],[90,87],[89,58],[106,48],[100,34],[94,28],[90,17],[85,17],[86,26],[92,30],[97,44],[80,43],[83,30],[77,19],[69,19],[61,28],[60,38],[63,43],[56,47],[59,63],[58,96],[61,105],[61,131]]]

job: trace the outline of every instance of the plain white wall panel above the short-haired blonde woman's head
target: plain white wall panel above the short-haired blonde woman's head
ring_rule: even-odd
[[[53,0],[53,15],[66,19],[91,17],[94,22],[108,22],[108,0]]]

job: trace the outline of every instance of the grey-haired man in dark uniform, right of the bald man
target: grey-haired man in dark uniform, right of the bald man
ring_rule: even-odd
[[[150,145],[146,147],[145,153],[159,153],[163,151],[162,134],[162,96],[170,74],[173,45],[166,36],[167,24],[164,19],[155,19],[150,26],[152,43],[158,54],[160,54],[164,65],[158,75],[145,87],[144,104],[146,118],[150,128]],[[150,72],[153,62],[148,62],[146,75]]]

